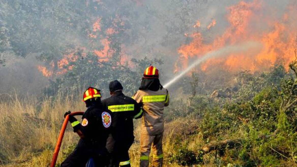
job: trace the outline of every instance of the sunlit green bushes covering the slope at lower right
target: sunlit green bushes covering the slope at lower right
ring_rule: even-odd
[[[235,149],[219,149],[218,156],[224,158],[218,164],[293,166],[297,152],[296,81],[282,66],[267,73],[240,75],[240,89],[232,94],[235,98],[211,100],[197,95],[187,114],[199,115],[205,143],[241,138]],[[188,153],[186,148],[177,150]]]

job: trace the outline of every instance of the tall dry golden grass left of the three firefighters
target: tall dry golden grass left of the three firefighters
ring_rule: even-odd
[[[39,102],[17,95],[0,103],[0,165],[48,166],[65,111],[84,111],[80,100],[58,95]],[[62,148],[78,141],[68,128]],[[62,152],[58,161],[61,162]]]

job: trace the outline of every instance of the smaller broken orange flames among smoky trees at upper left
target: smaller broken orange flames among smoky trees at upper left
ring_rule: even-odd
[[[99,0],[93,0],[93,2],[98,2],[101,3],[101,1]],[[89,1],[87,1],[86,5],[88,5]],[[121,19],[121,17],[119,15],[116,15],[116,17],[112,20],[112,24],[109,28],[107,28],[104,33],[100,32],[101,31],[101,20],[102,18],[98,18],[92,26],[91,30],[87,30],[88,31],[88,36],[91,39],[91,42],[93,42],[97,37],[102,38],[100,40],[103,48],[101,50],[93,50],[93,53],[95,55],[97,55],[98,57],[98,62],[102,63],[102,62],[108,62],[110,60],[110,58],[112,58],[112,56],[115,53],[115,50],[113,50],[112,48],[110,48],[110,36],[113,34],[117,34],[120,31],[124,30],[124,25],[125,22]],[[105,36],[105,38],[104,38]],[[128,65],[129,67],[133,67],[133,64],[131,61],[129,61],[129,56],[125,54],[124,52],[124,46],[121,46],[122,50],[120,53],[120,61],[118,63],[118,65]],[[70,65],[70,62],[75,62],[79,59],[79,56],[77,53],[80,53],[79,55],[81,57],[85,57],[86,54],[86,48],[84,47],[76,47],[75,49],[70,49],[69,51],[67,51],[67,53],[58,61],[56,61],[57,64],[57,69],[55,68],[55,63],[52,61],[50,63],[50,67],[45,67],[45,66],[38,66],[38,70],[40,72],[42,72],[42,74],[45,77],[50,77],[50,76],[57,76],[57,75],[61,75],[66,73],[68,70],[72,70],[74,65]],[[89,61],[90,62],[90,61]],[[91,62],[90,62],[91,63]],[[102,64],[101,64],[102,65]]]

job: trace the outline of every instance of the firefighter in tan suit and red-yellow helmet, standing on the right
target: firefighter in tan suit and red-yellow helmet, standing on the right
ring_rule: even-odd
[[[169,105],[168,90],[159,81],[159,70],[156,67],[146,68],[139,90],[132,97],[142,103],[143,118],[140,135],[140,167],[149,166],[151,146],[153,166],[163,164],[162,138],[164,131],[163,110]]]

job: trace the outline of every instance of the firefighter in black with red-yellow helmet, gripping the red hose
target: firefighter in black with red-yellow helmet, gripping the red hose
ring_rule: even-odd
[[[98,89],[89,87],[83,94],[83,101],[86,103],[87,110],[82,116],[82,122],[69,115],[73,131],[78,133],[80,140],[61,167],[85,167],[90,158],[94,160],[95,166],[108,165],[108,152],[105,145],[110,133],[111,112],[103,109]],[[64,117],[70,113],[70,111],[66,112]]]

